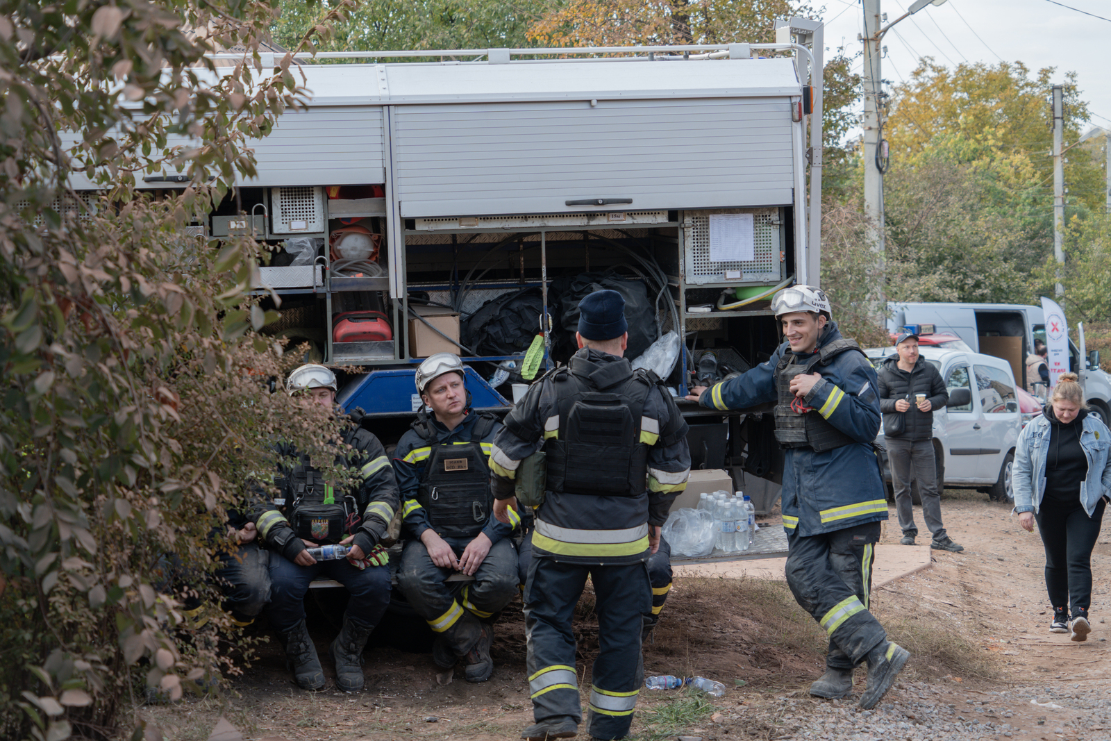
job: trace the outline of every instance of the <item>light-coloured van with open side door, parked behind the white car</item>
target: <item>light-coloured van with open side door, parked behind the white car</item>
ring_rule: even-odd
[[[1007,360],[1019,384],[1029,388],[1027,357],[1034,340],[1045,341],[1045,320],[1041,307],[1010,303],[888,303],[888,330],[949,332],[957,334],[977,352]],[[1083,343],[1083,332],[1080,333]],[[1091,413],[1104,423],[1111,421],[1111,375],[1100,370],[1099,350],[1087,357],[1069,340],[1069,367],[1080,377]]]

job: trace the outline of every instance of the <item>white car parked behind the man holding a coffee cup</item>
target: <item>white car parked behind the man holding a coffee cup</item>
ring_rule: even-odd
[[[864,353],[875,366],[895,354],[894,348]],[[948,489],[975,489],[994,500],[1014,499],[1011,469],[1022,414],[1011,364],[993,356],[967,350],[920,346],[922,358],[941,372],[949,405],[933,410],[933,452],[938,478]],[[875,441],[883,445],[883,429]],[[887,453],[884,478],[891,480]],[[911,487],[915,504],[918,488]]]

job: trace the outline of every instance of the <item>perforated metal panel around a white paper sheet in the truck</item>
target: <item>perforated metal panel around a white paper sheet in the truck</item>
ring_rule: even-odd
[[[754,259],[735,262],[715,262],[710,259],[710,216],[721,213],[751,213],[753,219]],[[778,209],[715,209],[689,212],[690,240],[684,252],[688,283],[720,283],[733,280],[727,270],[739,270],[739,281],[782,280],[779,243]]]

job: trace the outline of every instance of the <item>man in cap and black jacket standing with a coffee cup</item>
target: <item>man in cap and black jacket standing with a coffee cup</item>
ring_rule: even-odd
[[[922,519],[933,534],[930,548],[939,551],[963,551],[953,542],[941,523],[942,482],[938,481],[933,457],[933,409],[949,402],[949,391],[941,373],[918,351],[918,336],[903,332],[895,338],[895,351],[877,373],[880,387],[880,411],[883,412],[883,434],[891,465],[891,482],[895,490],[895,511],[902,528],[903,545],[913,545],[918,535],[910,497],[911,477],[918,481],[922,500]]]

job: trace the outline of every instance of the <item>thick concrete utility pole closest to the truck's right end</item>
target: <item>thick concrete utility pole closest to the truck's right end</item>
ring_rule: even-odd
[[[880,108],[883,94],[883,76],[880,67],[880,0],[863,0],[864,7],[864,70],[862,80],[864,87],[864,218],[867,220],[865,238],[880,261],[880,274],[885,276],[883,268],[885,246],[883,243],[883,172],[877,164],[877,149],[880,147]],[[884,286],[881,281],[877,307],[882,311],[887,306]]]

